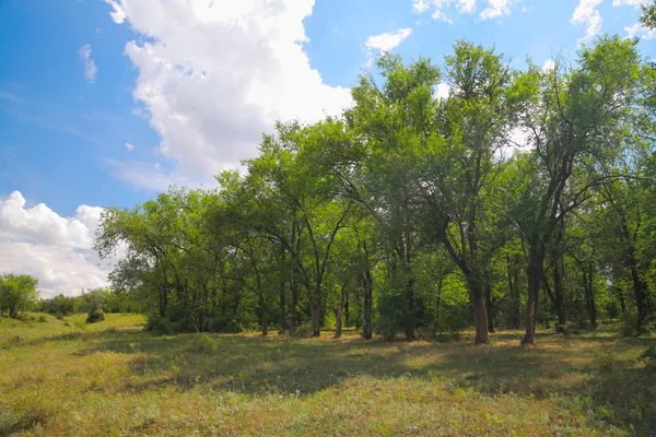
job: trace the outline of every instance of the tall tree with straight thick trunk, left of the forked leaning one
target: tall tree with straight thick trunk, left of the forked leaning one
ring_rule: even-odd
[[[500,157],[509,144],[525,90],[507,62],[492,49],[458,42],[446,57],[450,85],[440,106],[437,131],[444,141],[427,150],[419,187],[430,211],[433,235],[467,281],[475,312],[476,343],[488,343],[490,262],[503,246]]]

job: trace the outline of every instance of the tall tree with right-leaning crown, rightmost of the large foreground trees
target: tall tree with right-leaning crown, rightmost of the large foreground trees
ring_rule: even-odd
[[[528,246],[523,344],[535,343],[544,258],[559,223],[593,187],[617,176],[604,163],[626,137],[640,74],[635,44],[606,36],[582,49],[570,71],[559,63],[548,72],[531,67],[525,75],[539,99],[523,116],[532,150],[515,163],[514,217]]]

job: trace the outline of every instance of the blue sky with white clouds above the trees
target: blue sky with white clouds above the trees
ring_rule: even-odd
[[[608,33],[654,58],[646,1],[0,0],[0,273],[107,285],[104,208],[212,186],[277,120],[349,107],[382,52],[442,63],[466,38],[522,69]]]

